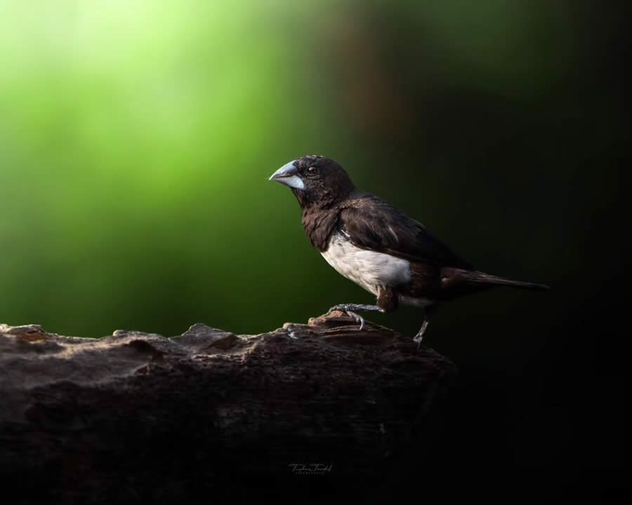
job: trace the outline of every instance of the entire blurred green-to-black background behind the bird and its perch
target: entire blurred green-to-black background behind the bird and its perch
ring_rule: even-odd
[[[437,465],[570,469],[578,495],[617,497],[628,19],[597,1],[0,0],[0,321],[257,333],[370,302],[267,180],[323,154],[478,268],[553,287],[437,312],[427,343],[461,372]]]

